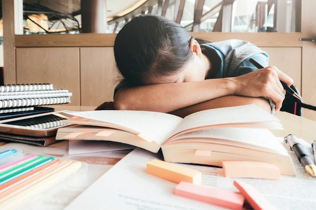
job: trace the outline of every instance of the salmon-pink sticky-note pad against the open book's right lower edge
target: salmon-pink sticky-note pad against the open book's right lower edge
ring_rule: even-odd
[[[280,169],[271,163],[256,161],[223,161],[225,177],[280,179]]]

